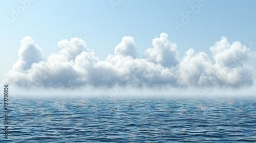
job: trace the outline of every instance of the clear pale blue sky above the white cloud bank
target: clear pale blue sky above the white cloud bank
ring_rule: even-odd
[[[24,13],[7,23],[12,9],[17,12],[24,7],[23,2],[28,6]],[[117,5],[111,6],[114,3]],[[182,14],[187,15],[199,3],[204,6],[177,30],[174,23],[182,23]],[[104,60],[114,54],[123,36],[132,36],[138,55],[143,55],[153,47],[152,39],[163,32],[177,44],[179,58],[193,47],[196,53],[205,52],[213,60],[209,47],[222,36],[256,51],[255,6],[256,1],[1,1],[0,80],[18,60],[20,40],[25,36],[33,38],[45,58],[60,51],[58,41],[73,37],[85,40],[95,56]],[[248,64],[255,69],[254,60]],[[255,75],[254,71],[254,80]]]

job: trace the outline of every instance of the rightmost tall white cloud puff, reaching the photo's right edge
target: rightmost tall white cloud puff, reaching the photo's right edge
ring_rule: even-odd
[[[253,84],[253,68],[246,64],[249,58],[255,54],[239,41],[229,43],[226,37],[222,37],[210,51],[215,59],[217,74],[222,83],[232,87]]]

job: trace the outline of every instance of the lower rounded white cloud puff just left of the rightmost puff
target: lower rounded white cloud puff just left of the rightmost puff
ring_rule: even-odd
[[[217,68],[212,65],[208,56],[200,52],[195,53],[189,49],[185,57],[178,65],[176,74],[179,77],[180,84],[192,86],[218,86],[221,84],[217,76]]]

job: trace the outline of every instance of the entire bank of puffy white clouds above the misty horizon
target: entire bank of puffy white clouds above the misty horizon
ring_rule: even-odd
[[[125,36],[114,54],[99,60],[78,38],[58,42],[59,53],[47,59],[34,40],[26,36],[20,42],[19,59],[6,74],[5,83],[20,87],[79,88],[109,87],[197,87],[241,88],[253,85],[253,68],[247,60],[255,52],[239,41],[231,44],[222,37],[204,52],[186,51],[178,57],[177,44],[166,33],[152,40],[143,58],[138,58],[133,37]]]

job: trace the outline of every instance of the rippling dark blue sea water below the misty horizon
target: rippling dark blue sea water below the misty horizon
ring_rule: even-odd
[[[256,142],[255,99],[10,98],[8,110],[1,142]]]

